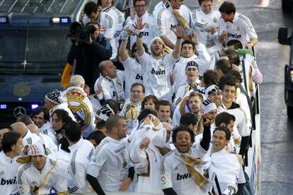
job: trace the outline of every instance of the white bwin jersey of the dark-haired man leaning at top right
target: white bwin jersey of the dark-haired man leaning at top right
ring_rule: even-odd
[[[219,20],[218,34],[221,35],[223,31],[226,31],[228,34],[226,42],[229,40],[239,40],[243,47],[245,47],[252,38],[258,38],[251,20],[238,12],[235,13],[233,23],[225,22],[222,18]]]

